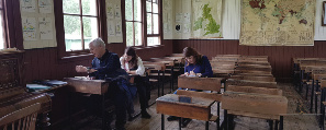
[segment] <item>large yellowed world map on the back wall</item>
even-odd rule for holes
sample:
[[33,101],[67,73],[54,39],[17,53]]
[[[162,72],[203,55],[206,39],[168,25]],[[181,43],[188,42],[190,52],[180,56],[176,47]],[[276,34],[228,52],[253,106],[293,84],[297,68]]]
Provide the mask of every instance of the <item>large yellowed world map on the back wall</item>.
[[243,0],[240,45],[313,46],[316,0]]

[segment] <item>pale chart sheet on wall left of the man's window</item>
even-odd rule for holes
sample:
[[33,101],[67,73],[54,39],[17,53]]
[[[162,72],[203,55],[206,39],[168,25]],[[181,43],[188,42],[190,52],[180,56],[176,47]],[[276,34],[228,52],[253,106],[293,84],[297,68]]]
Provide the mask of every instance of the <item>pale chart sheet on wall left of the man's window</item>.
[[53,0],[20,0],[24,49],[56,47]]

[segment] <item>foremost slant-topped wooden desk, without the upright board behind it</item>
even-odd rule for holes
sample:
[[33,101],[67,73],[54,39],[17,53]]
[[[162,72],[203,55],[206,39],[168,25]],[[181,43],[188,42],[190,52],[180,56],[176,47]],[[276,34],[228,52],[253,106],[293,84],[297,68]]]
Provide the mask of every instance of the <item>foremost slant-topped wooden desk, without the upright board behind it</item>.
[[211,120],[211,109],[213,99],[192,97],[192,103],[180,103],[179,96],[176,94],[167,94],[156,99],[156,111],[161,114],[161,129],[165,129],[164,115],[199,119]]

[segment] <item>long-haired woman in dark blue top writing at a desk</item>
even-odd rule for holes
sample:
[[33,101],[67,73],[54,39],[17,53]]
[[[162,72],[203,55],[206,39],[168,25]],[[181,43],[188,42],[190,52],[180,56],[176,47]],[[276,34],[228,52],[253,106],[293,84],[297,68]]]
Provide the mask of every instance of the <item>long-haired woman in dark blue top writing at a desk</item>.
[[[184,74],[181,76],[200,76],[200,78],[212,78],[213,70],[210,60],[206,56],[199,54],[194,48],[186,47],[183,49],[183,57],[186,58]],[[182,90],[179,87],[178,90]],[[198,91],[198,90],[192,90]],[[177,94],[177,91],[175,92]],[[170,116],[168,121],[177,120],[178,117]],[[191,119],[184,119],[182,127],[186,127]]]

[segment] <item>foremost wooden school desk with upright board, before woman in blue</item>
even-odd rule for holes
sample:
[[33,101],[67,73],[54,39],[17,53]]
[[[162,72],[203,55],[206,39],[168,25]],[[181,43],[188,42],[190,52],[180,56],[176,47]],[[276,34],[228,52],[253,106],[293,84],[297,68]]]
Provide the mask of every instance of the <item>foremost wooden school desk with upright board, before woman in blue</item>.
[[[221,78],[178,78],[178,86],[182,88],[195,88],[203,91],[213,91],[213,93],[178,90],[177,94],[167,94],[156,99],[156,111],[161,114],[161,129],[164,130],[164,115],[191,118],[206,121],[205,129],[209,130],[209,121],[216,121],[220,129],[220,102]],[[179,96],[191,97],[191,103],[178,101]],[[217,102],[217,116],[211,114],[211,106]],[[179,120],[179,129],[181,129]]]

